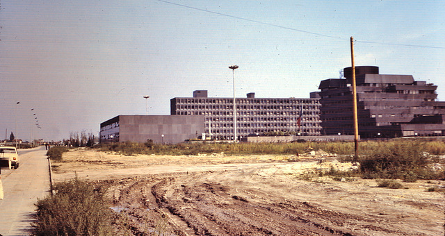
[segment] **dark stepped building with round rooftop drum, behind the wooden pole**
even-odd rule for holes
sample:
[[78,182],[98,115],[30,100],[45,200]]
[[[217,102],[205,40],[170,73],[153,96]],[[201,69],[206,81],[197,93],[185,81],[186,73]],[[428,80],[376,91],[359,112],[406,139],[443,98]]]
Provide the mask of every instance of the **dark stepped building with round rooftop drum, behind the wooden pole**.
[[[323,134],[352,135],[352,69],[344,77],[321,81]],[[437,101],[437,86],[410,75],[379,74],[378,67],[355,67],[360,137],[445,135],[445,102]],[[314,94],[312,94],[314,96]]]

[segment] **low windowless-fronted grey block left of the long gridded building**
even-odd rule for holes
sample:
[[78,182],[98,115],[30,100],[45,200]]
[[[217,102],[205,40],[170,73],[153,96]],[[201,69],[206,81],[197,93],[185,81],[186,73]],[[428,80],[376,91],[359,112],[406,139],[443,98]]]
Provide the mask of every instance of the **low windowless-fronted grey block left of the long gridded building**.
[[100,124],[100,142],[177,144],[204,133],[203,116],[118,115]]

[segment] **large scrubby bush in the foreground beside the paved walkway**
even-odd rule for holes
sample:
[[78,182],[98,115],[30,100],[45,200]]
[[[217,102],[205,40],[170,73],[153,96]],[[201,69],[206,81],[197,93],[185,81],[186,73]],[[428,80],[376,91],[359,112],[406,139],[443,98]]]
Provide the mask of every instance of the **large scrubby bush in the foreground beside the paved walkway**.
[[33,235],[114,235],[104,192],[78,178],[54,187],[54,196],[39,200]]

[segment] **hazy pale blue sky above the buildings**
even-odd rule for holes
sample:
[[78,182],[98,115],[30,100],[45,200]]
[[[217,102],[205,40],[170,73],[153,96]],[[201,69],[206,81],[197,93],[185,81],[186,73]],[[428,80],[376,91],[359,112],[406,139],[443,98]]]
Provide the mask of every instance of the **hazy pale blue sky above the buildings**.
[[[350,66],[410,74],[445,101],[444,1],[0,1],[0,133],[99,131],[116,115],[169,115],[209,90],[309,97]],[[16,102],[20,101],[17,105]],[[34,110],[31,111],[31,108]],[[31,128],[34,116],[41,129]],[[3,130],[3,131],[2,131]],[[3,136],[0,136],[3,139]]]

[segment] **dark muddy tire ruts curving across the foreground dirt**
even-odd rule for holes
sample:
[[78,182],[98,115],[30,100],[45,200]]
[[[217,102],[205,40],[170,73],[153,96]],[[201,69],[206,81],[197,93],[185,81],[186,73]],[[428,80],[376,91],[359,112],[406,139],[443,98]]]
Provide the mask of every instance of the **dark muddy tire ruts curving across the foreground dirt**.
[[133,235],[158,232],[160,224],[164,235],[362,235],[344,227],[345,222],[367,221],[312,203],[258,200],[197,178],[206,174],[128,179],[115,190],[120,192],[115,204],[125,209],[121,214],[129,217]]

